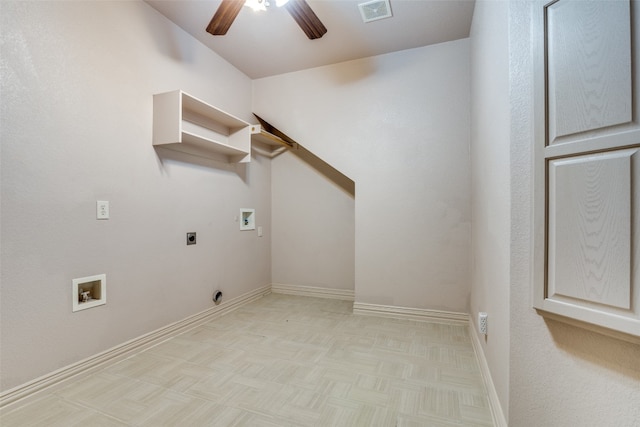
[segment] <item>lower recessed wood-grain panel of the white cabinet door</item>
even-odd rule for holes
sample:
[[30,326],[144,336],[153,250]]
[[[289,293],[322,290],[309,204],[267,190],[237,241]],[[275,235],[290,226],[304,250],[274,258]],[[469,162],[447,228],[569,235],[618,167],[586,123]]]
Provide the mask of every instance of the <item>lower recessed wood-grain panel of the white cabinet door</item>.
[[549,298],[631,308],[637,158],[638,150],[623,150],[550,162]]

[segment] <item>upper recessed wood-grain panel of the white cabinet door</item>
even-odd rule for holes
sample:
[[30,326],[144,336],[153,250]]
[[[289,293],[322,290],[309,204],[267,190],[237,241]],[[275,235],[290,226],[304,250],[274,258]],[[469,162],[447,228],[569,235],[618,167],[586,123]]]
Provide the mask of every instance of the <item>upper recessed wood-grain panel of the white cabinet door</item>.
[[556,2],[546,32],[549,142],[629,123],[629,2]]

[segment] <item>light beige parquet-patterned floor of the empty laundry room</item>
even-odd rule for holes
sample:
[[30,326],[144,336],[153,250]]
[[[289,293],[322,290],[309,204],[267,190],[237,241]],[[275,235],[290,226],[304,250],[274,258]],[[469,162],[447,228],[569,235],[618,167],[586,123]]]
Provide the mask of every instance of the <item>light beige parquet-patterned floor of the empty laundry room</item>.
[[354,316],[346,301],[289,295],[1,416],[3,427],[492,425],[465,326]]

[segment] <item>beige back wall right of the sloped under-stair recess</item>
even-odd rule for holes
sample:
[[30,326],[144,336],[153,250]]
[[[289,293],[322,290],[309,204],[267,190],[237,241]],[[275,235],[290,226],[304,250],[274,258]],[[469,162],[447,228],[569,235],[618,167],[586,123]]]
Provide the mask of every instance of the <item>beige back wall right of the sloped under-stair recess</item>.
[[358,302],[467,310],[468,55],[460,40],[253,82],[257,114],[355,181]]

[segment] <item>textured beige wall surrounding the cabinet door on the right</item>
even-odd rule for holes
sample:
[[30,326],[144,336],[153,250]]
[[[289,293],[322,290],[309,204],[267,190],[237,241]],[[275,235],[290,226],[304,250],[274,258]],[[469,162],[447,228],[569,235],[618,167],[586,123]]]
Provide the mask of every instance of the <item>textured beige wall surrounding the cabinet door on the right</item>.
[[509,425],[637,426],[640,346],[532,309],[532,3],[502,7],[509,10],[511,98]]

